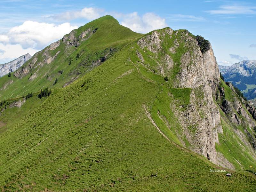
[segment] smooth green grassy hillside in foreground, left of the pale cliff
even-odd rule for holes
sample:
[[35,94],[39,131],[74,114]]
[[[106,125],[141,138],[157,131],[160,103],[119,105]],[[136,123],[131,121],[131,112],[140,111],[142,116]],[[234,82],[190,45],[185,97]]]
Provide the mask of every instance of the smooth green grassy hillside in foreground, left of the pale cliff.
[[153,53],[144,53],[148,66],[140,64],[138,49],[131,41],[72,84],[26,101],[33,107],[0,133],[2,191],[254,191],[252,173],[210,172],[224,168],[181,146],[186,137],[178,137],[169,106],[186,108],[194,92],[173,86],[182,47],[168,81]]

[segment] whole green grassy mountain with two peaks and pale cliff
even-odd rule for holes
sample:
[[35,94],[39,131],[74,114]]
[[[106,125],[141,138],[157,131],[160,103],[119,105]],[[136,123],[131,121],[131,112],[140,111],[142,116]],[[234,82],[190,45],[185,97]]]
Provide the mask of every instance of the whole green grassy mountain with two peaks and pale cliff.
[[254,190],[256,110],[220,79],[202,36],[137,34],[105,16],[12,74],[0,78],[12,80],[1,90],[2,191]]

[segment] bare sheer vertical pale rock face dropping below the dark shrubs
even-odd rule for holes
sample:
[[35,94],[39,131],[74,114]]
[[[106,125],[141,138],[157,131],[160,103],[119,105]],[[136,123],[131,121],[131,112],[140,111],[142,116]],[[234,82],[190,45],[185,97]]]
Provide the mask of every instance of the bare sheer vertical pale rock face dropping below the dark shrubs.
[[[218,132],[222,132],[220,112],[213,101],[215,81],[218,80],[218,67],[212,48],[203,54],[195,39],[187,35],[186,47],[190,52],[181,56],[181,70],[178,74],[180,87],[193,88],[190,96],[190,105],[184,112],[185,126],[196,124],[195,135],[187,134],[192,144],[192,150],[217,163],[215,142],[219,143]],[[197,45],[197,46],[196,46]],[[191,53],[192,52],[192,53]],[[202,92],[201,100],[196,99],[195,92]],[[201,114],[200,114],[201,113]],[[182,119],[181,119],[182,120]]]

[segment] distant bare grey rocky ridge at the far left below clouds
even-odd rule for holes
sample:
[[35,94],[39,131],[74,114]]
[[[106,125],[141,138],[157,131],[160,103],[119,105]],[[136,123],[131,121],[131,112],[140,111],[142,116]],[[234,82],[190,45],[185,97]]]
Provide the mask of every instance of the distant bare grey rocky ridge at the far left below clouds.
[[16,71],[20,68],[24,63],[26,63],[32,56],[27,53],[26,55],[22,55],[19,58],[10,61],[5,64],[0,64],[0,76],[4,76],[9,72]]

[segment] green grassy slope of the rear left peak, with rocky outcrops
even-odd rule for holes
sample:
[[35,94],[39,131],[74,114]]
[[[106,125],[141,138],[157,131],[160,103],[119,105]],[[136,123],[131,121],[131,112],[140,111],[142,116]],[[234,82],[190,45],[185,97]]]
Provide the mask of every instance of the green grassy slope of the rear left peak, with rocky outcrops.
[[[96,28],[97,30],[93,33],[92,31]],[[82,38],[80,36],[82,31],[88,29],[90,31]],[[141,34],[119,25],[112,16],[101,17],[87,23],[65,35],[66,41],[63,42],[64,38],[61,39],[56,49],[51,50],[48,46],[36,53],[18,70],[27,71],[27,74],[20,73],[21,78],[13,76],[15,72],[11,77],[7,75],[1,77],[0,99],[19,97],[27,92],[40,91],[45,87],[59,88],[65,83],[71,83],[97,66],[97,61],[102,57],[107,55],[106,59],[110,58],[124,45],[140,36]],[[69,42],[79,44],[70,45]],[[48,59],[52,59],[49,64]],[[71,62],[70,65],[69,62]],[[58,83],[53,85],[56,78]]]

